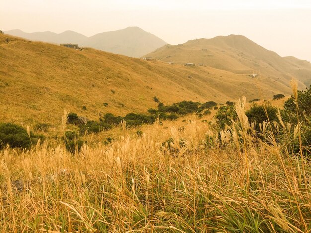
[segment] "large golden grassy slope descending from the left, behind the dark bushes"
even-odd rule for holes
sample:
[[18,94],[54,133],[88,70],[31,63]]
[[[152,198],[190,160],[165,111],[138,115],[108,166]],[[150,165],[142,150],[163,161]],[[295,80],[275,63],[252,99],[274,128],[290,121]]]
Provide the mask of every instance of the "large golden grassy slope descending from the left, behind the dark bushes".
[[154,96],[172,104],[290,94],[288,83],[271,81],[212,67],[170,65],[91,48],[80,51],[0,34],[0,122],[60,124],[64,108],[94,120],[100,112],[146,113],[157,106]]

